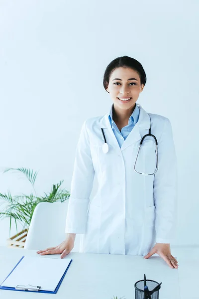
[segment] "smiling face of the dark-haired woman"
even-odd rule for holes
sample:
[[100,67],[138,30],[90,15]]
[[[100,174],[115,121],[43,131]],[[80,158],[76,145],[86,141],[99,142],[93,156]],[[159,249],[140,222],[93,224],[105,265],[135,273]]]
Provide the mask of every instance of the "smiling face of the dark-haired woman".
[[[143,88],[144,84],[140,84],[140,77],[136,71],[118,67],[111,73],[106,90],[110,93],[114,107],[128,110],[134,107]],[[122,101],[119,98],[130,98],[130,100]]]

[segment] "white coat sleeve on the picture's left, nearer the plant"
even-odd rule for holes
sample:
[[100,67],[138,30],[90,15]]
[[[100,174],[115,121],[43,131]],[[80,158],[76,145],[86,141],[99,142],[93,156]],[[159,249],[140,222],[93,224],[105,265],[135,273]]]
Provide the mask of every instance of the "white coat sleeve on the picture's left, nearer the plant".
[[84,234],[86,232],[87,210],[95,174],[86,122],[82,126],[76,149],[66,217],[66,233]]

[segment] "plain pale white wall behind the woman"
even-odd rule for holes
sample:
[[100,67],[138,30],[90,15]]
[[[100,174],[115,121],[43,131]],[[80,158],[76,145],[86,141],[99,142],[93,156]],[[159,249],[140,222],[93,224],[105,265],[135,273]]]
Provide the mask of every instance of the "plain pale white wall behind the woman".
[[[64,179],[70,191],[83,121],[109,111],[107,64],[128,55],[147,83],[138,102],[170,119],[178,157],[176,244],[199,244],[199,2],[1,0],[0,170],[39,170],[35,188]],[[0,193],[28,193],[0,173]],[[14,233],[14,226],[12,233]],[[0,221],[0,245],[8,221]]]

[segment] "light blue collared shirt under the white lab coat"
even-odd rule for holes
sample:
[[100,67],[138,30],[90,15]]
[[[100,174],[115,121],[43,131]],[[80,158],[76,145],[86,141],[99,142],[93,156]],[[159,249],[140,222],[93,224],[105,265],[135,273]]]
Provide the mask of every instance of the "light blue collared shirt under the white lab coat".
[[140,114],[140,110],[139,107],[137,106],[137,104],[135,104],[135,109],[133,111],[133,113],[131,114],[129,120],[128,120],[128,125],[123,127],[121,129],[121,132],[119,131],[119,129],[117,128],[115,122],[112,119],[112,107],[110,109],[110,113],[108,116],[109,122],[110,122],[110,126],[112,128],[112,131],[116,137],[116,140],[119,144],[119,147],[121,148],[121,146],[124,143],[124,140],[126,140],[126,138],[128,137],[129,133],[132,131],[132,129],[134,128],[135,124],[138,122],[139,119],[139,114]]

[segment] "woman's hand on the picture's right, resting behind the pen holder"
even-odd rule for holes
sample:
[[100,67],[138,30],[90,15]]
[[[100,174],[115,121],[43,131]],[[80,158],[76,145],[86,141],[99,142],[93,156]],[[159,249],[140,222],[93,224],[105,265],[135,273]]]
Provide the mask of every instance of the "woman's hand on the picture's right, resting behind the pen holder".
[[150,258],[154,253],[159,254],[169,267],[178,269],[178,261],[171,255],[170,244],[156,243],[144,259]]

